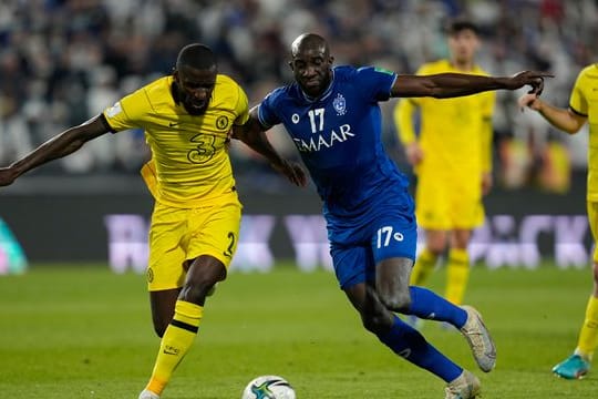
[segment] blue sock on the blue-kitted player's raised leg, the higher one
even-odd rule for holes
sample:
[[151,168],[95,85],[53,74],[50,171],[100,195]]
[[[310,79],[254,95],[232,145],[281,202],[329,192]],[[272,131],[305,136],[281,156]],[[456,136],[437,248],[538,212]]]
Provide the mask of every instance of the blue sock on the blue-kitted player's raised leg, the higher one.
[[448,321],[456,328],[463,327],[465,321],[467,321],[467,313],[465,310],[451,304],[430,289],[411,286],[409,290],[411,294],[410,315],[427,320]]

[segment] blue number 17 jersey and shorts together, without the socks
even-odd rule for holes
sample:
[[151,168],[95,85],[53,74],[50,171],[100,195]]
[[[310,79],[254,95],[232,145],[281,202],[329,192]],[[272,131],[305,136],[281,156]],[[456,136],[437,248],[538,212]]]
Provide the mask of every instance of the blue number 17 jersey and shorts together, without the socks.
[[414,259],[417,241],[408,180],[382,146],[378,103],[396,75],[337,66],[318,99],[297,83],[268,94],[258,109],[265,127],[282,123],[323,201],[332,264],[342,288],[375,279],[375,265]]

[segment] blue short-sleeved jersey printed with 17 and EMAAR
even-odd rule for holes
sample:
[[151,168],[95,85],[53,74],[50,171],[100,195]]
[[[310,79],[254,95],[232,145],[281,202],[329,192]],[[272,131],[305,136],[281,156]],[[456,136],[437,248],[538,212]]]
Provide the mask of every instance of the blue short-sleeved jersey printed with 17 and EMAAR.
[[282,123],[290,134],[324,203],[324,216],[359,217],[392,186],[408,186],[381,141],[378,102],[389,100],[395,79],[371,66],[337,66],[320,98],[310,99],[293,83],[259,105],[264,126]]

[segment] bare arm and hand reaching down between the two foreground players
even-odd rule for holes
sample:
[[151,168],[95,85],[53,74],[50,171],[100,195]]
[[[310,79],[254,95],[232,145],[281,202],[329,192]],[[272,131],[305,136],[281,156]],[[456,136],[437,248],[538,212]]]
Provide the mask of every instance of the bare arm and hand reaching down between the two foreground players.
[[306,186],[306,172],[298,163],[287,161],[278,154],[259,123],[256,109],[251,110],[247,123],[243,126],[233,127],[233,139],[240,140],[251,150],[267,158],[272,168],[287,176],[292,184],[300,187]]

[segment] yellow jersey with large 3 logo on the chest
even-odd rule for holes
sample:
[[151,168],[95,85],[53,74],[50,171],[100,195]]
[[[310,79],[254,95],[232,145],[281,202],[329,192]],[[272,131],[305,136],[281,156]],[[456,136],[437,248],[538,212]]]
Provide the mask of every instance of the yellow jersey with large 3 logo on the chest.
[[126,95],[104,111],[114,132],[145,131],[152,160],[142,168],[154,198],[190,208],[238,201],[228,141],[233,125],[249,119],[247,94],[229,76],[218,74],[203,115],[190,115],[172,94],[165,76]]

